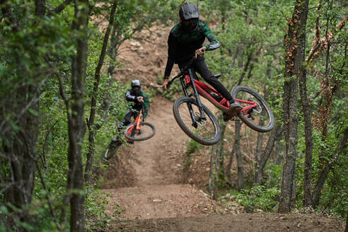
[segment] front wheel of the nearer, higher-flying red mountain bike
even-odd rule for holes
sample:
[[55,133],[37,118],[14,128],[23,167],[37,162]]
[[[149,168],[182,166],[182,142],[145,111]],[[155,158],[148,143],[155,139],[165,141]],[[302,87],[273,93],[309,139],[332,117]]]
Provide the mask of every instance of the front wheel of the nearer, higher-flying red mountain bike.
[[193,98],[182,97],[175,100],[173,113],[180,128],[199,144],[213,145],[221,137],[220,125],[213,113],[202,105],[205,120],[200,118],[201,114],[197,102]]

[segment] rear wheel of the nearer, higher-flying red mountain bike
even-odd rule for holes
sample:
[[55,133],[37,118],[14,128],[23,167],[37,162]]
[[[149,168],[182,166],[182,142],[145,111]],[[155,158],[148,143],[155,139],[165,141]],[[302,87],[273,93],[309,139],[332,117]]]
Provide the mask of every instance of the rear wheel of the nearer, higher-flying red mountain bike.
[[254,108],[248,110],[242,109],[238,113],[240,120],[247,124],[248,127],[257,132],[269,132],[273,129],[275,121],[273,112],[261,95],[245,86],[236,86],[236,88],[233,88],[231,95],[237,99],[240,105],[242,105],[242,108],[250,104],[242,103],[239,100],[254,101],[257,104]]

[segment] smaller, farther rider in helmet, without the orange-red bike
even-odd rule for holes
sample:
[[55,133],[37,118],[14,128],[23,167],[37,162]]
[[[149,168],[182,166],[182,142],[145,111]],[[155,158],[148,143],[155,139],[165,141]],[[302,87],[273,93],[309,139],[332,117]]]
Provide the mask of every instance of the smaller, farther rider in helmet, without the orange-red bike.
[[[147,113],[149,112],[149,100],[147,99],[144,91],[141,91],[140,81],[138,79],[132,80],[131,86],[132,89],[128,90],[126,93],[126,100],[127,102],[134,104],[130,108],[127,108],[126,115],[124,115],[124,120],[122,120],[122,122],[118,125],[117,131],[119,134],[123,127],[127,127],[131,123],[132,117],[135,119],[139,115],[142,105],[144,105],[143,120],[145,120]],[[120,135],[118,137],[113,137],[112,141],[116,142],[117,144],[122,144],[122,141],[120,141]]]

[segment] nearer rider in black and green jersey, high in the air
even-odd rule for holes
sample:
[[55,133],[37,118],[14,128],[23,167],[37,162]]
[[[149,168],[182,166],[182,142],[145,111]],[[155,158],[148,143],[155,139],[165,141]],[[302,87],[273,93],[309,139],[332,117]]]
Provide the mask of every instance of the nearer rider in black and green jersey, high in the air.
[[[231,111],[238,112],[241,109],[240,104],[233,99],[222,83],[211,74],[204,60],[204,51],[216,50],[220,47],[219,41],[211,33],[208,25],[204,21],[199,20],[199,11],[195,4],[187,2],[181,4],[179,18],[180,23],[170,30],[168,37],[168,59],[163,78],[163,90],[168,89],[168,79],[173,65],[178,64],[179,68],[182,69],[195,56],[197,59],[192,62],[192,68],[229,101]],[[210,43],[202,46],[206,37]],[[197,79],[196,74],[195,79]],[[224,114],[224,120],[228,119],[228,115]]]

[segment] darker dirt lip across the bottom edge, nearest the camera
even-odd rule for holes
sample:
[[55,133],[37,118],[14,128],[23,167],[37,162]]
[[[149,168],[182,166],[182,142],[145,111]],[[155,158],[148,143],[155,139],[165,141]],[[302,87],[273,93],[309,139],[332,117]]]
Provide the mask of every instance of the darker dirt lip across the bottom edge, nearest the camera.
[[210,215],[174,219],[120,221],[110,231],[124,232],[336,232],[344,231],[340,221],[303,214]]

